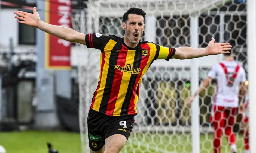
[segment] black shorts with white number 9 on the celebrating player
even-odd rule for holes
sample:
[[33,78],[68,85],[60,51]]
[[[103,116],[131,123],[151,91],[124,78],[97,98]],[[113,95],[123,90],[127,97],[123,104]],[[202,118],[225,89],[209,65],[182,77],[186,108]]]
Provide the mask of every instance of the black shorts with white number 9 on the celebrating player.
[[135,115],[109,116],[90,109],[87,118],[90,149],[99,151],[105,145],[105,139],[114,134],[121,134],[128,140]]

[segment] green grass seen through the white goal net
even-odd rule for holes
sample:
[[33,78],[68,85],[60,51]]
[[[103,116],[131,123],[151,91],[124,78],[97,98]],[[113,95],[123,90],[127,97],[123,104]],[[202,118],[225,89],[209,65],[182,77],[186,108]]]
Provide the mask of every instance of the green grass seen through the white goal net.
[[[154,139],[154,142],[152,142]],[[208,133],[200,135],[200,152],[208,153],[213,152],[212,148],[213,134]],[[144,143],[138,143],[138,141],[144,140]],[[243,152],[243,137],[242,134],[236,135],[237,153]],[[135,148],[135,149],[134,149]],[[157,150],[156,150],[157,148]],[[135,150],[135,151],[134,151]],[[149,151],[146,151],[149,150]],[[184,135],[181,133],[168,133],[168,135],[162,135],[160,133],[151,134],[138,134],[131,133],[126,146],[122,149],[122,153],[132,153],[132,152],[168,152],[168,153],[179,153],[179,152],[192,152],[191,145],[191,135]],[[230,146],[227,139],[222,137],[222,148],[221,152],[230,152]]]

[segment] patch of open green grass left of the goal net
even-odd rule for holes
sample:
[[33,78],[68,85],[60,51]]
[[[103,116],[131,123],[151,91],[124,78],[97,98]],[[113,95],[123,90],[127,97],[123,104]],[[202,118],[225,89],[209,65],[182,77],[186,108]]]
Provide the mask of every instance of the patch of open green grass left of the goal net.
[[7,153],[47,153],[51,142],[60,153],[80,153],[80,134],[71,132],[12,131],[0,132],[0,145]]

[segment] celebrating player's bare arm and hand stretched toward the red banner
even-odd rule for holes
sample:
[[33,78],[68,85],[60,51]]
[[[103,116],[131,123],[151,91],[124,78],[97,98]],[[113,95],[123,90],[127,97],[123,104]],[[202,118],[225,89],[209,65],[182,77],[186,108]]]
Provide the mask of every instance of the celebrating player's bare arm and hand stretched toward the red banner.
[[71,28],[61,27],[43,22],[40,19],[38,12],[36,12],[35,7],[33,8],[33,14],[22,11],[14,12],[14,14],[18,15],[15,16],[15,18],[22,20],[18,20],[19,23],[36,27],[42,31],[45,31],[49,34],[52,34],[53,36],[59,37],[69,42],[76,42],[86,45],[85,34],[79,33]]

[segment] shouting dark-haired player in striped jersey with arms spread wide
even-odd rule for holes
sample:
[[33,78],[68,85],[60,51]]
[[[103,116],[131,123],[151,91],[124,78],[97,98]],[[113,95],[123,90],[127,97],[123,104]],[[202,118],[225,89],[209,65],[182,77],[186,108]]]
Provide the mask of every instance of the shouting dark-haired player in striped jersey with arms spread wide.
[[123,15],[124,37],[99,33],[83,34],[40,20],[33,14],[17,11],[18,22],[27,24],[70,42],[101,50],[99,85],[93,95],[87,119],[91,152],[119,152],[130,135],[137,114],[139,85],[151,63],[156,59],[190,59],[216,55],[231,49],[229,43],[214,43],[206,48],[166,48],[147,41],[141,42],[146,13],[130,8]]

